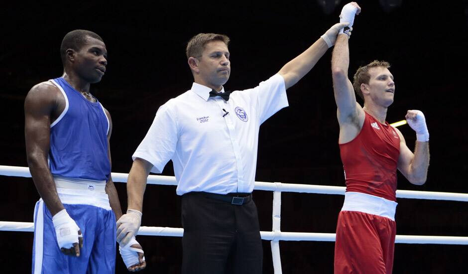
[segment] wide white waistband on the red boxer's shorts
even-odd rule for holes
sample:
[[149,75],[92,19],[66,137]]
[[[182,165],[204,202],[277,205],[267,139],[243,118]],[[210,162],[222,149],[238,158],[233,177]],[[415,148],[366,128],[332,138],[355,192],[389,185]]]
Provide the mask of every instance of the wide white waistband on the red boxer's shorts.
[[378,215],[395,221],[395,211],[398,203],[381,197],[359,193],[346,192],[342,211],[360,211]]

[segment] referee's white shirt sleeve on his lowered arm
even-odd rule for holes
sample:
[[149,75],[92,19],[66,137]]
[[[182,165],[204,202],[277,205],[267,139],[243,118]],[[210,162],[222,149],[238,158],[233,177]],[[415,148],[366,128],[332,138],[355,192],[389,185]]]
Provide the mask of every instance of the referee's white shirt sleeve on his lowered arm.
[[162,172],[174,155],[178,141],[176,117],[171,115],[166,104],[159,108],[146,136],[132,155],[133,160],[141,158],[153,164],[151,172],[154,173]]

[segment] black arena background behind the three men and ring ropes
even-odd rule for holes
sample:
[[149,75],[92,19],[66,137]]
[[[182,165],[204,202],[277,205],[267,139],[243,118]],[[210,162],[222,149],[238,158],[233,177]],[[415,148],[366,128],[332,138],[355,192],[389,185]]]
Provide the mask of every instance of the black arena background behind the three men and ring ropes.
[[[108,71],[92,93],[110,111],[113,172],[128,173],[131,155],[159,106],[190,89],[187,41],[199,32],[231,38],[227,90],[254,87],[275,74],[339,21],[346,1],[117,1],[2,3],[0,11],[0,165],[27,166],[24,98],[62,74],[59,47],[73,29],[106,43]],[[467,1],[365,0],[350,40],[350,77],[374,59],[391,63],[395,101],[387,121],[424,112],[431,162],[426,184],[398,174],[398,189],[468,193]],[[338,147],[330,49],[288,90],[290,106],[261,127],[256,180],[344,186]],[[399,128],[410,149],[415,133]],[[173,175],[169,162],[163,175]],[[126,210],[126,185],[115,183]],[[32,179],[0,176],[0,221],[32,222],[39,195]],[[254,191],[260,230],[271,231],[272,192]],[[142,226],[181,227],[174,186],[148,185]],[[281,231],[334,233],[342,195],[282,194]],[[398,199],[398,235],[468,236],[468,203]],[[180,273],[181,238],[139,236],[143,273]],[[1,273],[30,273],[33,233],[0,232]],[[265,274],[273,273],[263,241]],[[284,274],[333,273],[334,242],[280,242]],[[467,273],[467,245],[396,244],[394,273]],[[117,254],[116,273],[126,273]]]

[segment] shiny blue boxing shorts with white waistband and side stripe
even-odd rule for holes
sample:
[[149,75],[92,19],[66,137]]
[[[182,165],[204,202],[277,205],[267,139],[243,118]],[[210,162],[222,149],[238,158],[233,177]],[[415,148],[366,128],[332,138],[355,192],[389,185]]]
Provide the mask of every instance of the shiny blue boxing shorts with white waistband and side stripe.
[[52,216],[42,199],[34,209],[32,274],[113,274],[116,266],[116,217],[106,182],[54,177],[59,198],[83,234],[80,257],[63,254]]

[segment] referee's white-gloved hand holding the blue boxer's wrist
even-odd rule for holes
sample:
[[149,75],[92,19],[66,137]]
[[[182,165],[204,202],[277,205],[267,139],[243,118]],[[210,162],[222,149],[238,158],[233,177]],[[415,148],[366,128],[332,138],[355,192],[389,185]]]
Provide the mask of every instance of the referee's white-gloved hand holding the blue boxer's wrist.
[[[138,234],[141,225],[142,213],[138,210],[127,209],[127,214],[123,214],[117,221],[117,241],[121,246],[126,246],[131,237]],[[123,238],[122,238],[123,237]]]

